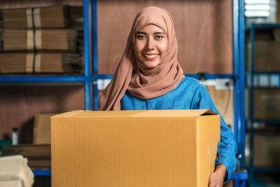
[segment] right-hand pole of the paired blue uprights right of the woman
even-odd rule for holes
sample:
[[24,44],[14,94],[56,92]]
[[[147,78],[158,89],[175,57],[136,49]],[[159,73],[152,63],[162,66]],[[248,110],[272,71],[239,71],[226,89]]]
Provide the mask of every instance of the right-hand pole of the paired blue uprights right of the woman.
[[240,104],[240,167],[245,168],[245,17],[244,0],[239,0],[239,104]]

